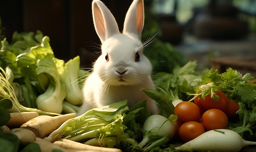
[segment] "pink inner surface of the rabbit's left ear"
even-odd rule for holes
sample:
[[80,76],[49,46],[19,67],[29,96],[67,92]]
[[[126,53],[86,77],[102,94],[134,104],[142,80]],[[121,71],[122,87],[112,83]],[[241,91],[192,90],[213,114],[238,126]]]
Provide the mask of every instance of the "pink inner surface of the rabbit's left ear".
[[99,35],[101,41],[105,39],[106,31],[104,25],[104,19],[97,4],[93,6],[93,17],[94,17],[94,26],[96,29],[97,34]]

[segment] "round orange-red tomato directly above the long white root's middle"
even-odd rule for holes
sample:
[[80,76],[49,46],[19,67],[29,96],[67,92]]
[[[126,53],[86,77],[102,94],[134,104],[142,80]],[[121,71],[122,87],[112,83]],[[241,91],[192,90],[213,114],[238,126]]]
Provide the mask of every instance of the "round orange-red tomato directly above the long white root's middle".
[[202,124],[206,130],[224,129],[228,121],[227,115],[220,109],[209,109],[202,115]]

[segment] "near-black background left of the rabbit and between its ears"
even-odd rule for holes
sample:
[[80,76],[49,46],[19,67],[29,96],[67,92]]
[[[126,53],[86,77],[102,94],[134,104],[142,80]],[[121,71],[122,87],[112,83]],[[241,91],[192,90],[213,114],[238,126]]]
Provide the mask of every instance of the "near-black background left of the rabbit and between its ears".
[[[132,0],[102,0],[115,16],[120,29]],[[4,35],[11,41],[14,31],[40,30],[50,37],[60,59],[92,55],[81,59],[88,65],[97,56],[92,45],[100,44],[92,22],[91,0],[1,0],[0,17]],[[121,6],[121,7],[120,7]],[[115,9],[114,9],[115,8]]]

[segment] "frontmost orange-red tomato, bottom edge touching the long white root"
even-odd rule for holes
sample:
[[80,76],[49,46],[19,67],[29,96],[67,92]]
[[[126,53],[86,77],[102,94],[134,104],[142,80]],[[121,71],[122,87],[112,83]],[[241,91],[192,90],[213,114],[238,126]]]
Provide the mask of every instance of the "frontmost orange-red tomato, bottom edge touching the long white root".
[[182,141],[187,142],[204,133],[204,127],[197,121],[188,121],[180,126],[179,134]]

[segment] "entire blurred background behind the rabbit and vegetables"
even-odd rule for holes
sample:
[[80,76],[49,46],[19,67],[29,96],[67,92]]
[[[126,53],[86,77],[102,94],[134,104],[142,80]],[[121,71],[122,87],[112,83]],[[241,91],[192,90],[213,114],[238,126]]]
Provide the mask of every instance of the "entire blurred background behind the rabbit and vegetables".
[[[132,0],[102,0],[120,31]],[[18,32],[40,30],[59,59],[81,57],[89,68],[101,42],[92,21],[92,0],[0,0],[1,31],[11,42]],[[198,70],[232,67],[256,76],[256,0],[144,0],[142,41],[154,72],[197,60]]]

